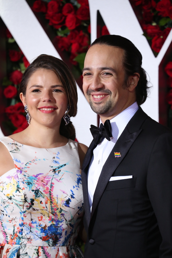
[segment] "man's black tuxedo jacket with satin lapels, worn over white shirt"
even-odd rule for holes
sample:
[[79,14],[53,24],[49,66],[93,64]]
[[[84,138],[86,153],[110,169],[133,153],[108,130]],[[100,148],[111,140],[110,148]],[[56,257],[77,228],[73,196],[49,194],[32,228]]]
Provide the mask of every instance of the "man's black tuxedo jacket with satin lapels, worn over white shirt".
[[[172,257],[172,131],[139,107],[102,168],[90,212],[87,172],[94,148],[92,142],[82,170],[84,257]],[[133,178],[109,181],[126,175]]]

